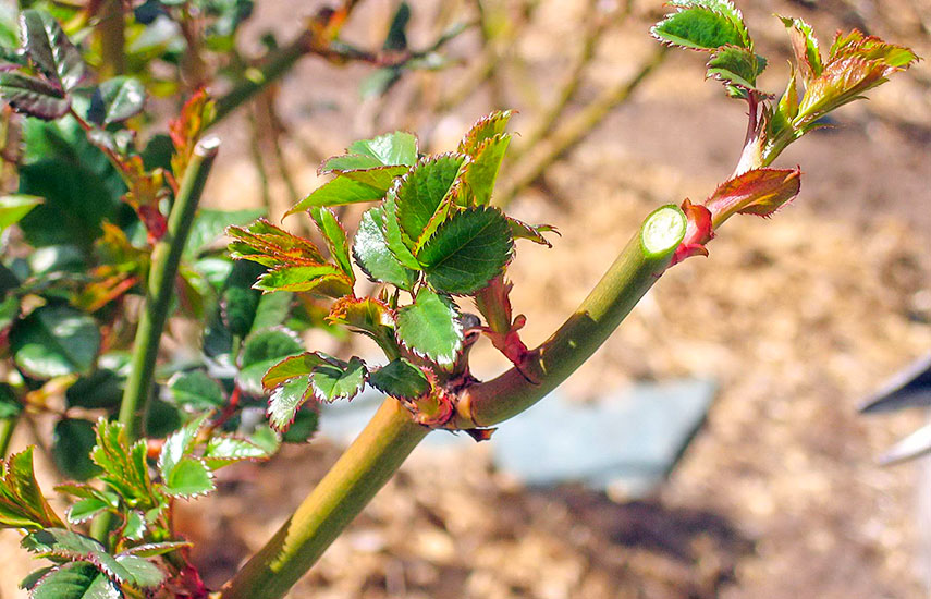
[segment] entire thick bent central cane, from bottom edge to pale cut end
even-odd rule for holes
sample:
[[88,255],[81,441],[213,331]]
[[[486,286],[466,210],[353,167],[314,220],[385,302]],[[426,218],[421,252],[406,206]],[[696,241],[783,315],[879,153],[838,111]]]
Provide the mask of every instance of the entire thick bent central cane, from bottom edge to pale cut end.
[[[669,267],[686,219],[663,206],[644,222],[608,273],[565,325],[535,350],[530,383],[516,369],[466,391],[453,427],[475,428],[511,417],[566,379],[617,327]],[[401,467],[429,429],[389,398],[366,429],[274,537],[223,587],[218,599],[278,599],[323,553]]]

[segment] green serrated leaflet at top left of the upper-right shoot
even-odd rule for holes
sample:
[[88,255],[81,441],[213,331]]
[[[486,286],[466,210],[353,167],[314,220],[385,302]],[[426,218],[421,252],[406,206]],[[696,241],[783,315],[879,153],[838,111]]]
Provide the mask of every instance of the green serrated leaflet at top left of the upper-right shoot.
[[650,33],[664,44],[693,50],[714,50],[722,46],[752,48],[744,19],[726,0],[679,0],[678,9],[657,23]]

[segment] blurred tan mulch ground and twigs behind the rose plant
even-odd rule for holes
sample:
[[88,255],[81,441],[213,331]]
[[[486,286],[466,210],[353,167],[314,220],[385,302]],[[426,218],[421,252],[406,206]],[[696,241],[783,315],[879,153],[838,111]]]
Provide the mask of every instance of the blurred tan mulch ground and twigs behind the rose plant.
[[[710,383],[713,401],[694,423],[703,416],[703,424],[667,479],[636,498],[623,485],[571,476],[530,485],[497,462],[503,437],[427,443],[291,597],[929,596],[922,542],[931,530],[920,524],[918,498],[931,480],[920,462],[875,461],[922,414],[865,417],[857,407],[931,351],[931,2],[737,4],[770,59],[761,85],[774,93],[791,50],[773,13],[806,19],[824,47],[838,28],[858,27],[926,60],[870,101],[838,111],[835,129],[792,146],[780,164],[801,167],[801,195],[770,220],[735,219],[709,258],[664,276],[559,391],[584,409],[642,384]],[[242,52],[258,53],[268,30],[297,35],[322,5],[257,2]],[[399,5],[360,0],[342,38],[382,47]],[[277,219],[323,182],[320,160],[354,139],[403,129],[418,133],[421,151],[443,151],[482,114],[516,109],[519,136],[495,201],[562,233],[552,249],[522,244],[510,269],[534,346],[648,211],[701,200],[733,171],[745,107],[703,81],[702,56],[663,52],[650,38],[660,1],[414,0],[409,8],[411,48],[467,27],[427,57],[434,61],[427,70],[303,59],[217,127],[223,148],[206,203],[268,206]],[[360,212],[346,212],[350,229]],[[285,224],[299,230],[309,222],[301,218]],[[365,352],[319,331],[308,343]],[[506,366],[489,347],[476,353],[480,378]],[[257,550],[339,456],[345,431],[328,433],[326,413],[321,427],[310,444],[223,470],[220,492],[183,504],[208,585]],[[683,443],[694,431],[686,429]],[[542,451],[564,431],[553,420],[535,432],[516,442]],[[576,441],[566,451],[579,461],[602,451],[584,435]],[[0,540],[2,596],[17,597],[5,580],[19,580],[27,558],[12,549],[12,535]]]

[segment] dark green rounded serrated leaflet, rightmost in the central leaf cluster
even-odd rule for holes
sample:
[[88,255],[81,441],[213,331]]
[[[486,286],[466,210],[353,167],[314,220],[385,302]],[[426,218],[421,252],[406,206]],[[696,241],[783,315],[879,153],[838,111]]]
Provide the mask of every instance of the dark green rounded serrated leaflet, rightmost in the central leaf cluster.
[[437,291],[468,295],[483,288],[511,259],[511,225],[497,208],[469,208],[437,229],[417,259]]

